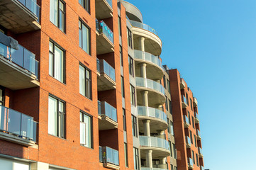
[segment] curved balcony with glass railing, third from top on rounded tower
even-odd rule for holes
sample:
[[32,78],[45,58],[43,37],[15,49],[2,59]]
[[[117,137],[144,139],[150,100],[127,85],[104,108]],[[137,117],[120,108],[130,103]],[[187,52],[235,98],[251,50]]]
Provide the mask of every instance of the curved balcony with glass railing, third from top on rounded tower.
[[148,91],[148,106],[154,107],[156,103],[165,103],[165,88],[162,84],[151,79],[136,77],[136,89],[138,105],[143,106],[142,91]]

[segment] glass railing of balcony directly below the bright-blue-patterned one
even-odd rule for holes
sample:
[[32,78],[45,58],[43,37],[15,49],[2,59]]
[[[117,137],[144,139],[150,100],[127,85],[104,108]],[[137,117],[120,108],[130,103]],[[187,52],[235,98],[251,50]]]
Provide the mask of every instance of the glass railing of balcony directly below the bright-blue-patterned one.
[[116,72],[111,65],[109,65],[105,60],[99,60],[97,59],[97,71],[100,73],[105,73],[113,79],[113,81],[116,81]]

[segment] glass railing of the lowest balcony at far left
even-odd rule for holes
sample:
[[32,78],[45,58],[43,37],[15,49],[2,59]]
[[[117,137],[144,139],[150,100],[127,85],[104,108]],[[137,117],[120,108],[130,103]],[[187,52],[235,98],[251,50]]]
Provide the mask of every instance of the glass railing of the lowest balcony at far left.
[[33,120],[33,117],[0,106],[1,132],[36,141],[36,126],[37,123]]

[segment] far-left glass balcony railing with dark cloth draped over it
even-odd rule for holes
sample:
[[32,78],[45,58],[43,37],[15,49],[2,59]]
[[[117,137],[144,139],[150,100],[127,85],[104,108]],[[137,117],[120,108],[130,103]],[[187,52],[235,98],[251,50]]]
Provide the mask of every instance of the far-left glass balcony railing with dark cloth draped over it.
[[38,79],[39,62],[35,60],[35,55],[26,48],[18,45],[18,50],[14,50],[0,42],[0,55],[17,64],[28,72],[35,74]]

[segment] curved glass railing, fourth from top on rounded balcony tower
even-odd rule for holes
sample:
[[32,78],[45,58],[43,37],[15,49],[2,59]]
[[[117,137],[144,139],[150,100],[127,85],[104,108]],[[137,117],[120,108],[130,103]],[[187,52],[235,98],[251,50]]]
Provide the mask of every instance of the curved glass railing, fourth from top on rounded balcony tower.
[[152,118],[158,118],[167,122],[167,115],[165,112],[158,110],[157,108],[150,108],[145,106],[137,106],[138,115],[148,116]]

